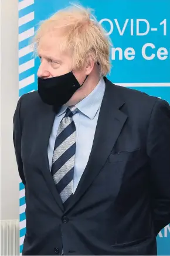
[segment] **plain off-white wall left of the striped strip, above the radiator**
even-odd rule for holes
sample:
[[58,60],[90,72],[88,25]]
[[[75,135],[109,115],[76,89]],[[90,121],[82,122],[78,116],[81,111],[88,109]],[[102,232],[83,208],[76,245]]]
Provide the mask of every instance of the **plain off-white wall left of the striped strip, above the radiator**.
[[1,2],[1,220],[19,219],[12,118],[18,101],[18,0]]

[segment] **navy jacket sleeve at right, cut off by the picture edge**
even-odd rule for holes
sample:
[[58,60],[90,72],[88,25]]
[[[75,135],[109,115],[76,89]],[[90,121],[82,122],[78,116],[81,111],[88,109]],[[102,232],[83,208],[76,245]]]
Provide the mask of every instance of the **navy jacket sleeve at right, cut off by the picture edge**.
[[170,223],[170,107],[158,99],[148,127],[147,152],[155,234]]

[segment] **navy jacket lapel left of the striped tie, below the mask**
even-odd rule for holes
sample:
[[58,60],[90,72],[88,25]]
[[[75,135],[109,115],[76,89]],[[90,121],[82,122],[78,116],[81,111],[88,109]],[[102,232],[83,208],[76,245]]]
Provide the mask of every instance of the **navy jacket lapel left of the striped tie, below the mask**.
[[43,104],[40,109],[40,116],[37,124],[40,126],[38,128],[38,150],[39,157],[37,159],[38,167],[40,167],[43,176],[45,177],[45,181],[47,183],[47,187],[50,189],[55,201],[63,211],[63,203],[60,198],[59,193],[57,192],[55,182],[53,180],[52,174],[49,169],[49,159],[47,155],[47,148],[49,145],[49,138],[52,132],[53,122],[55,120],[55,111],[53,111],[53,107]]

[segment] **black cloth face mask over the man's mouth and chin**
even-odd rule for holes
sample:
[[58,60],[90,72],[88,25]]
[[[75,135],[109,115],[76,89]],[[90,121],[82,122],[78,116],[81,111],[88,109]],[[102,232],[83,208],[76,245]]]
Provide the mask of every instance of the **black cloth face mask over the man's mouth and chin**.
[[72,71],[60,75],[59,77],[46,79],[38,78],[38,92],[40,98],[46,104],[54,105],[55,107],[61,107],[66,104],[66,102],[72,98],[74,92],[76,92],[82,85],[79,84]]

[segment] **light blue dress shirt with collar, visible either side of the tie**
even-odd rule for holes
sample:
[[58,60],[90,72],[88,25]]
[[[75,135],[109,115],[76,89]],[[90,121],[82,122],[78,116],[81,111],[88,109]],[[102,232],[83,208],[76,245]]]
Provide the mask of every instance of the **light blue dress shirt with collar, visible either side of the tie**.
[[[83,174],[89,160],[105,87],[104,79],[101,77],[93,91],[86,98],[76,104],[76,107],[79,110],[73,115],[74,124],[76,126],[76,154],[74,162],[73,193],[76,191],[81,175]],[[62,106],[53,123],[47,150],[50,169],[52,167],[52,157],[55,148],[57,130],[62,118],[66,114],[66,109],[66,106]]]

